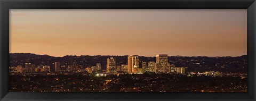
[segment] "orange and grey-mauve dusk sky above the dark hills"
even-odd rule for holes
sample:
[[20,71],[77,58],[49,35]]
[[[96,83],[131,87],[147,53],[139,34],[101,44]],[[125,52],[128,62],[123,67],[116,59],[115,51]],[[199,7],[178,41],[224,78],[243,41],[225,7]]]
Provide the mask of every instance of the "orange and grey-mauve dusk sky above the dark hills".
[[10,53],[241,56],[244,10],[10,10]]

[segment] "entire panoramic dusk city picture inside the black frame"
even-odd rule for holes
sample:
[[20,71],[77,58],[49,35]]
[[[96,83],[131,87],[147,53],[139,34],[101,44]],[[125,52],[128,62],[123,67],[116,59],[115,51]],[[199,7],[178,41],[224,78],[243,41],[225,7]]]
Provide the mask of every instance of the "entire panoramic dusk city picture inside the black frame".
[[10,92],[248,89],[246,9],[9,13]]

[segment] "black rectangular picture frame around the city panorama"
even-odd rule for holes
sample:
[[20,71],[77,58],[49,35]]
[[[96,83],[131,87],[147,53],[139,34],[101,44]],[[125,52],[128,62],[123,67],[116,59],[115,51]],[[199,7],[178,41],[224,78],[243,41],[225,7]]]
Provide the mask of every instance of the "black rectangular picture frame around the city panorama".
[[[247,9],[247,92],[9,92],[10,9]],[[255,0],[0,0],[1,100],[255,100]]]

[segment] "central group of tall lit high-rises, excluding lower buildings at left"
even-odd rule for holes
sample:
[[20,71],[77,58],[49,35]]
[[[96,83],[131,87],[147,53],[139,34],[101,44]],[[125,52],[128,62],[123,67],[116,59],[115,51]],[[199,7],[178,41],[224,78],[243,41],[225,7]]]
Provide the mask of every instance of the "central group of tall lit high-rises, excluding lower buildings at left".
[[108,58],[107,61],[107,73],[118,73],[119,71],[126,73],[144,73],[144,72],[155,72],[159,73],[181,73],[185,74],[185,68],[175,68],[175,65],[168,62],[167,54],[156,55],[156,62],[143,62],[140,61],[139,56],[133,55],[128,56],[127,65],[122,64],[121,66],[116,65],[116,59],[113,57]]

